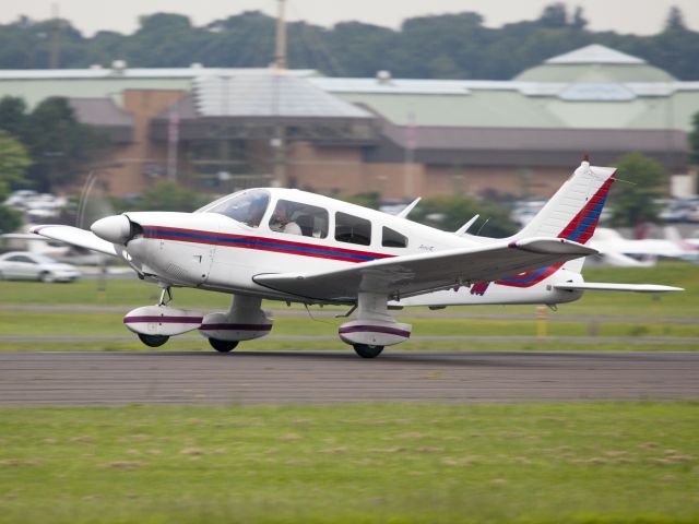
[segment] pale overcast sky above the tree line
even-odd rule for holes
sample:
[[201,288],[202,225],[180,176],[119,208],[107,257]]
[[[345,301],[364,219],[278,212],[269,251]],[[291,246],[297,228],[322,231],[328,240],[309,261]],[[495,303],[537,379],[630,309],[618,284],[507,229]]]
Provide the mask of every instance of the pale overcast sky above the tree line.
[[[499,27],[508,22],[538,17],[545,5],[556,0],[287,0],[289,20],[332,26],[343,21],[398,28],[405,19],[428,14],[475,11],[485,17],[485,25]],[[204,25],[242,11],[276,12],[276,0],[0,0],[0,23],[12,22],[25,14],[34,20],[50,17],[54,5],[62,19],[86,36],[99,29],[131,33],[138,27],[139,16],[155,12],[188,15],[194,25]],[[593,31],[616,31],[639,35],[661,31],[672,5],[685,15],[685,23],[699,31],[698,0],[564,0],[569,10],[583,8],[589,27]]]

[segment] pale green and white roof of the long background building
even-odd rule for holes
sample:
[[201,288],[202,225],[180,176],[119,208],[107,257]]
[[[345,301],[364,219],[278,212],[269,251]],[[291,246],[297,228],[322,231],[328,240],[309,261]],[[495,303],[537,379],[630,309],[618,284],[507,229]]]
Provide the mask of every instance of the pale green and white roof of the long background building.
[[[270,69],[201,67],[14,70],[0,71],[0,97],[22,96],[29,107],[48,96],[110,97],[119,105],[126,90],[178,90],[191,93],[197,117],[295,118],[303,112],[356,119],[370,118],[372,111],[399,124],[413,119],[419,126],[691,129],[691,116],[699,111],[699,82],[679,82],[628,57],[587,47],[554,57],[512,81],[388,74],[337,79],[311,70],[289,70],[280,80]],[[600,63],[584,63],[588,60]]]

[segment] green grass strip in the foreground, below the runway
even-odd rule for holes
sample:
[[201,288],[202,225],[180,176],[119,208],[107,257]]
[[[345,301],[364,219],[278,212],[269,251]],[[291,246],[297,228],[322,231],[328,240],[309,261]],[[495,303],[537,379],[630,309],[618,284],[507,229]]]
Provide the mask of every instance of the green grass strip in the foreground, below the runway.
[[699,404],[0,409],[0,522],[698,522]]

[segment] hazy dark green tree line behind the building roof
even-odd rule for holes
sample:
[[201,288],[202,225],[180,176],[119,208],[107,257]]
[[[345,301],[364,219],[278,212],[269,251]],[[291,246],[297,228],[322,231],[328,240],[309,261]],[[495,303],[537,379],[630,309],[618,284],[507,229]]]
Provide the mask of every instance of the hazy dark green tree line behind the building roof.
[[[266,67],[274,57],[274,19],[248,11],[204,26],[180,14],[143,16],[132,34],[84,36],[67,20],[25,16],[0,25],[0,69],[87,68],[123,59],[130,67]],[[342,22],[327,28],[288,24],[289,64],[331,76],[509,80],[572,49],[602,44],[645,59],[680,80],[699,79],[699,33],[672,8],[655,35],[593,32],[581,8],[547,5],[533,21],[484,25],[476,12],[407,19],[400,29]]]

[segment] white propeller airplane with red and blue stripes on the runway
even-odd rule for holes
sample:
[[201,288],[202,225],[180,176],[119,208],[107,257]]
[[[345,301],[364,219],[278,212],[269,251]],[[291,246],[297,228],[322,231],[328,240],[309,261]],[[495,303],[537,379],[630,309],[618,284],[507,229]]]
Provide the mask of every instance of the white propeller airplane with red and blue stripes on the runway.
[[[91,231],[44,225],[33,233],[123,259],[162,288],[154,306],[123,323],[147,346],[192,330],[221,353],[265,336],[273,319],[262,299],[344,305],[340,338],[364,358],[406,341],[411,324],[395,308],[484,303],[558,303],[585,290],[661,293],[649,284],[585,283],[585,246],[615,169],[587,157],[541,212],[509,238],[442,231],[407,218],[285,188],[248,189],[193,213],[126,212],[96,221]],[[171,289],[233,295],[227,311],[175,308]]]

